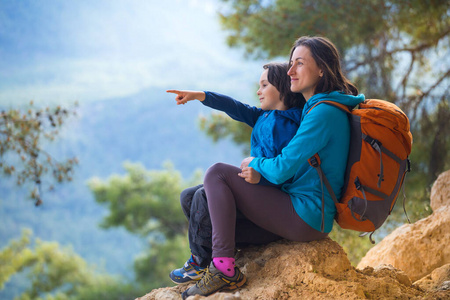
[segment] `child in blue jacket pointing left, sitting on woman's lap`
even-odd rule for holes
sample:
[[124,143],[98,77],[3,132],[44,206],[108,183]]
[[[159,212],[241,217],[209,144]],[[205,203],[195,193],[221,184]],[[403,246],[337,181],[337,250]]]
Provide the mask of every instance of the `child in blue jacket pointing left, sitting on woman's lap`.
[[[300,125],[305,99],[300,93],[290,90],[287,63],[269,63],[263,66],[256,92],[261,108],[249,106],[228,96],[213,92],[178,91],[177,104],[198,99],[202,104],[226,112],[231,118],[245,122],[253,128],[251,135],[251,155],[256,157],[275,157],[289,143]],[[262,179],[262,185],[275,186]],[[281,186],[281,185],[279,185]],[[181,207],[189,220],[189,246],[191,257],[186,264],[170,273],[175,283],[198,280],[211,263],[212,229],[203,185],[184,190],[180,195]],[[269,243],[281,237],[272,234],[250,222],[238,213],[236,243]]]

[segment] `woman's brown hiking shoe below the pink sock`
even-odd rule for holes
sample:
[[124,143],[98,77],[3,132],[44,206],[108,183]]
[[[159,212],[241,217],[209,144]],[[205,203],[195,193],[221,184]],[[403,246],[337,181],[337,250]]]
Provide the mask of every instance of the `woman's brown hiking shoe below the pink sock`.
[[234,267],[234,271],[233,277],[225,276],[222,272],[217,270],[211,262],[211,265],[203,274],[202,279],[184,291],[183,294],[181,294],[181,297],[186,299],[193,295],[208,296],[223,289],[233,290],[243,286],[247,279],[238,267]]

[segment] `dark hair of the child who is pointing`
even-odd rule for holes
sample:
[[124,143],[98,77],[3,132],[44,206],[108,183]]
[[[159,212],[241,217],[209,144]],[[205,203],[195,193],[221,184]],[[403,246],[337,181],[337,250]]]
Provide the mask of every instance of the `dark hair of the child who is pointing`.
[[293,93],[291,91],[291,78],[287,75],[289,70],[288,63],[268,63],[263,66],[267,72],[267,80],[273,85],[278,92],[284,105],[289,108],[303,108],[306,103],[305,97],[301,93]]

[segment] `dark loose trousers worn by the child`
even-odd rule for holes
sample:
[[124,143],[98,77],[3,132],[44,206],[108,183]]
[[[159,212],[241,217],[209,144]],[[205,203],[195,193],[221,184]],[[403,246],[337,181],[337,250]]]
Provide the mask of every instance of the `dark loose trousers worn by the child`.
[[[208,201],[203,185],[185,189],[180,195],[181,208],[189,221],[189,246],[200,266],[206,267],[212,260],[212,225]],[[236,210],[236,244],[238,248],[248,245],[267,244],[281,239],[248,220]]]

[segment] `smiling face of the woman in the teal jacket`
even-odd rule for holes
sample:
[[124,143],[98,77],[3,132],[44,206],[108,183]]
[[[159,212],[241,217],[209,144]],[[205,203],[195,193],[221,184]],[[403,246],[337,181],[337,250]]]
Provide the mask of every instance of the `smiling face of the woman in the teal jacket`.
[[302,93],[306,101],[314,95],[314,90],[323,76],[308,47],[298,46],[292,52],[291,67],[288,75],[291,77],[291,91]]

